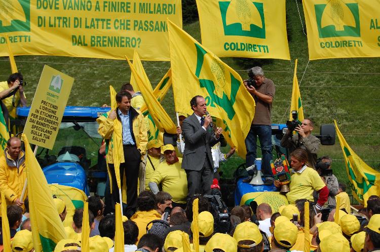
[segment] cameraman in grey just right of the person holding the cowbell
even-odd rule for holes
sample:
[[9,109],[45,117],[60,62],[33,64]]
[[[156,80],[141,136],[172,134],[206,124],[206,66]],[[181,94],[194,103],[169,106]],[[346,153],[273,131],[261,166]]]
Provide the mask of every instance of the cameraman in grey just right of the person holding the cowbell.
[[327,203],[329,207],[335,207],[336,200],[335,195],[339,193],[338,191],[338,179],[335,177],[335,175],[332,174],[331,169],[331,158],[329,156],[323,156],[321,158],[318,158],[317,164],[316,164],[316,170],[321,176],[321,179],[323,182],[325,182],[325,185],[328,188],[329,194],[327,198]]

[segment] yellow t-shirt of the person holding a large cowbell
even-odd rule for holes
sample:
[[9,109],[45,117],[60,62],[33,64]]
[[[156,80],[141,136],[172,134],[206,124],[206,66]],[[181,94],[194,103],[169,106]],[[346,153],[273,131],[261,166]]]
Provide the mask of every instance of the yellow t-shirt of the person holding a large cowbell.
[[325,187],[321,177],[313,168],[306,167],[302,173],[293,173],[289,184],[290,192],[286,194],[289,204],[297,199],[313,200],[314,190],[319,191]]

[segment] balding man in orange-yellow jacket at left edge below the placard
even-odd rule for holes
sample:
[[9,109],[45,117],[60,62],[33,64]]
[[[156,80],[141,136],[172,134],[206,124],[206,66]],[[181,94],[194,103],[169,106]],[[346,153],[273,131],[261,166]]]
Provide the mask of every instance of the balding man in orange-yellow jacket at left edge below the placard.
[[24,207],[26,193],[23,199],[20,197],[25,180],[25,153],[21,150],[21,140],[11,137],[4,155],[0,157],[0,191],[4,192],[7,205]]

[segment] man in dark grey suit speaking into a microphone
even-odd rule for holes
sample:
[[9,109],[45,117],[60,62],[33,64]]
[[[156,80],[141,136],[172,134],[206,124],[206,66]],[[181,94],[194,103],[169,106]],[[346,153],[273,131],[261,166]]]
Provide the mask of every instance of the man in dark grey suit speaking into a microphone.
[[210,115],[206,115],[206,101],[202,96],[195,96],[190,101],[194,113],[183,120],[182,133],[185,139],[182,168],[187,175],[187,199],[195,194],[210,194],[214,163],[211,146],[219,141],[221,128],[213,131]]

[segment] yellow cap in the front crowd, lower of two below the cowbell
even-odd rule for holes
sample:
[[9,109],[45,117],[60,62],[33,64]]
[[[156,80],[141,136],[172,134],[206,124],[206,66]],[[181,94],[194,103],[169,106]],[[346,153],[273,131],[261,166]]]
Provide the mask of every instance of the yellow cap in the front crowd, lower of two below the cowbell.
[[289,220],[282,221],[276,224],[273,235],[280,245],[290,248],[297,241],[298,228]]

